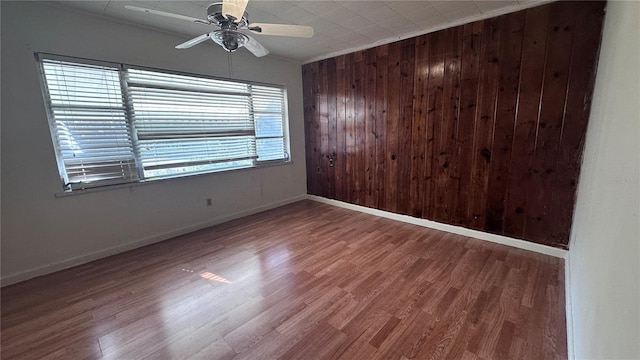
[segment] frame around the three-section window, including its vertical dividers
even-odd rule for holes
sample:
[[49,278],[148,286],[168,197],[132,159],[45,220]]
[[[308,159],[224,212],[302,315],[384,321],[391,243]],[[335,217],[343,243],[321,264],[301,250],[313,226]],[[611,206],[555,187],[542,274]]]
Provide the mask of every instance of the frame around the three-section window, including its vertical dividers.
[[[40,87],[41,87],[43,98],[44,98],[43,100],[46,108],[47,120],[49,123],[49,132],[51,135],[51,141],[54,148],[54,154],[56,156],[56,163],[58,165],[60,179],[62,182],[62,192],[59,193],[59,195],[86,193],[86,192],[92,192],[92,191],[102,191],[102,190],[122,188],[122,187],[131,187],[135,185],[163,181],[163,180],[188,178],[192,176],[199,176],[199,175],[212,174],[212,173],[218,173],[218,172],[237,171],[237,170],[243,170],[243,169],[255,169],[255,168],[261,168],[261,167],[286,165],[293,162],[292,156],[291,156],[291,138],[290,138],[290,129],[289,129],[290,122],[289,122],[288,92],[285,85],[271,84],[271,83],[264,83],[264,82],[257,82],[257,81],[247,81],[242,79],[230,79],[230,78],[224,78],[220,76],[203,75],[203,74],[189,73],[185,71],[168,70],[168,69],[162,69],[162,68],[154,68],[150,66],[95,60],[95,59],[44,53],[44,52],[35,52],[34,58],[36,60],[36,65],[38,68],[38,80],[40,82]],[[121,182],[121,183],[115,183],[115,184],[104,184],[104,185],[95,185],[95,184],[91,185],[92,182],[90,182],[90,183],[87,183],[87,186],[84,186],[84,187],[81,185],[78,187],[74,187],[72,186],[72,184],[66,183],[67,169],[65,167],[64,157],[60,149],[60,142],[57,134],[58,127],[56,126],[56,118],[53,112],[51,94],[49,92],[49,87],[46,82],[46,77],[45,77],[46,75],[45,75],[44,64],[43,64],[43,60],[45,59],[53,60],[53,61],[64,61],[64,62],[76,63],[81,65],[104,66],[104,67],[118,69],[120,90],[121,90],[122,99],[123,99],[123,106],[125,107],[125,121],[130,131],[130,136],[132,141],[132,151],[135,159],[136,172],[138,174],[138,179],[136,181]],[[170,74],[170,75],[197,77],[197,78],[211,79],[211,80],[217,80],[217,81],[226,81],[226,82],[238,83],[238,84],[249,85],[249,86],[251,85],[265,86],[265,87],[277,88],[282,90],[282,96],[283,96],[282,141],[283,141],[283,149],[284,149],[284,158],[271,159],[271,160],[258,160],[256,157],[255,159],[253,159],[251,165],[226,167],[226,168],[220,168],[220,169],[208,169],[203,171],[192,171],[192,172],[185,172],[181,174],[172,174],[172,175],[164,175],[164,176],[157,176],[157,177],[145,177],[144,167],[142,166],[142,160],[137,150],[139,140],[138,140],[138,134],[133,121],[134,120],[133,109],[132,109],[133,104],[131,102],[131,98],[128,93],[129,88],[127,84],[127,73],[126,73],[128,69],[152,71],[152,72],[159,72],[159,73]],[[255,129],[255,126],[256,125],[255,125],[255,119],[254,119],[254,129]],[[259,137],[256,134],[254,134],[253,136],[257,142],[257,139]]]

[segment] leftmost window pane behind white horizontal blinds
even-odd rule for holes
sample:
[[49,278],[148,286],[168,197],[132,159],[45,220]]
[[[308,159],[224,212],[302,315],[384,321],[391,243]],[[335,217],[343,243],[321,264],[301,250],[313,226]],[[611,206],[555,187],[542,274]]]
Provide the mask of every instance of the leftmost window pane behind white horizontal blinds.
[[68,186],[137,181],[118,68],[50,59],[42,66]]

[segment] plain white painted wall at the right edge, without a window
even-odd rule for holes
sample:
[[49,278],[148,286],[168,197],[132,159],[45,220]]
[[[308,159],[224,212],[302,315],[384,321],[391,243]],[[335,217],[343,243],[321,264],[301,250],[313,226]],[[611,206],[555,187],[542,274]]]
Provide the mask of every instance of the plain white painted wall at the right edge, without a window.
[[640,2],[607,4],[569,251],[577,359],[640,358],[639,21]]

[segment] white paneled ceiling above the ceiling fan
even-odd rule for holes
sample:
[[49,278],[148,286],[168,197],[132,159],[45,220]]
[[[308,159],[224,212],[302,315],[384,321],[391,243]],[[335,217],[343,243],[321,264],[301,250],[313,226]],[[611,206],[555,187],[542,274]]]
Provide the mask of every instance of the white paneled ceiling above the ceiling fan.
[[[250,0],[247,12],[251,22],[312,26],[315,35],[311,39],[254,35],[272,55],[304,63],[517,11],[547,1]],[[72,7],[178,34],[185,40],[208,32],[212,26],[130,11],[124,8],[125,5],[206,19],[207,6],[211,2],[213,1],[56,1],[62,7]],[[212,42],[211,45],[216,46]]]

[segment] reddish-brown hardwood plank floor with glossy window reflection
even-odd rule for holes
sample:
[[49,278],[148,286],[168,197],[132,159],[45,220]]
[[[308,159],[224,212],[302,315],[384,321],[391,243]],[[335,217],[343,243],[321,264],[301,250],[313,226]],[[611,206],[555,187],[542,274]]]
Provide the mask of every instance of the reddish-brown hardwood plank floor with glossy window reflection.
[[563,267],[302,201],[3,288],[1,355],[564,359]]

